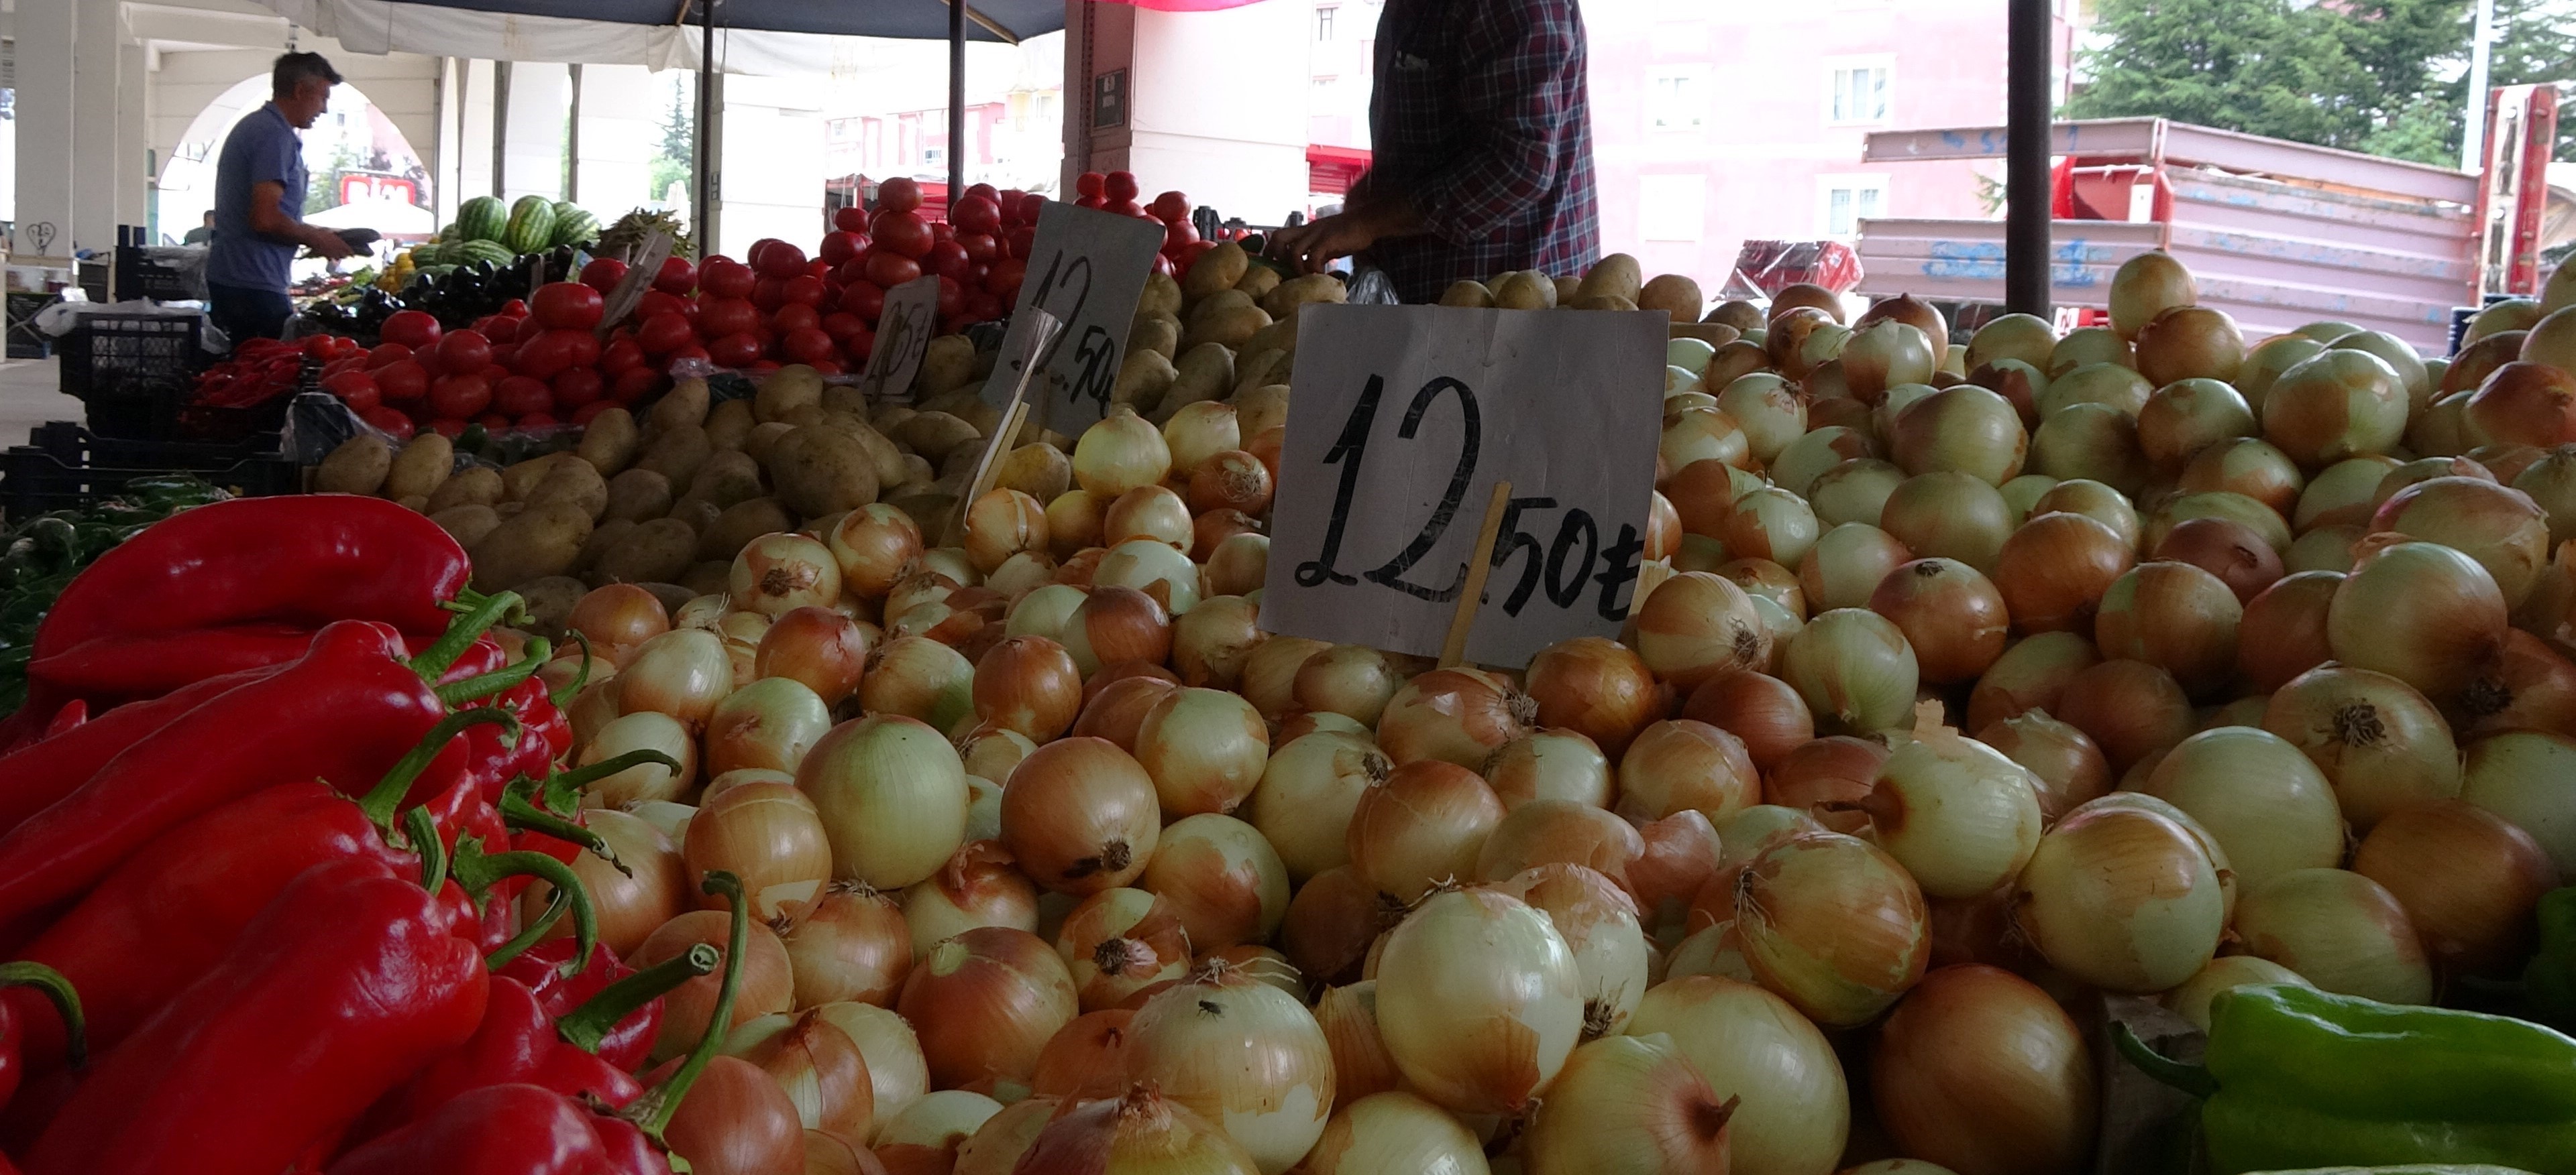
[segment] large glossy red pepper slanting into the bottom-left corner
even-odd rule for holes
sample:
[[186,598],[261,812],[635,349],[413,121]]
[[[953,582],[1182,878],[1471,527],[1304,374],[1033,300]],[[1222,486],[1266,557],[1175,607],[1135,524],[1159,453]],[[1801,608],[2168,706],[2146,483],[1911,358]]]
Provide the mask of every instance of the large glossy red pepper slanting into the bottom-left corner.
[[384,861],[307,869],[90,1070],[31,1175],[276,1175],[482,1023],[451,902]]

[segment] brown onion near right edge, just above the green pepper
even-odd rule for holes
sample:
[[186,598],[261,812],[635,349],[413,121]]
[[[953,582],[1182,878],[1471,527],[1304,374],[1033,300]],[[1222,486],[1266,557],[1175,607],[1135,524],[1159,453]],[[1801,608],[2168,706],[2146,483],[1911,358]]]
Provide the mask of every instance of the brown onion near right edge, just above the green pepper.
[[2504,974],[2532,949],[2532,910],[2558,887],[2540,841],[2463,800],[2391,812],[2352,854],[2424,938],[2445,974]]

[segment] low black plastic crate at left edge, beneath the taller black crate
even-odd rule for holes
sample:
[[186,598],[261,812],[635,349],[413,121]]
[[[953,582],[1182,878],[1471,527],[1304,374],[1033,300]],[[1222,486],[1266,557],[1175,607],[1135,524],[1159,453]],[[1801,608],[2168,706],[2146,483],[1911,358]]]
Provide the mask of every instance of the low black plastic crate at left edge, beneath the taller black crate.
[[299,494],[304,471],[278,453],[278,437],[232,445],[100,437],[72,422],[39,424],[26,445],[0,453],[0,509],[13,519],[90,507],[137,478],[188,473],[240,496]]

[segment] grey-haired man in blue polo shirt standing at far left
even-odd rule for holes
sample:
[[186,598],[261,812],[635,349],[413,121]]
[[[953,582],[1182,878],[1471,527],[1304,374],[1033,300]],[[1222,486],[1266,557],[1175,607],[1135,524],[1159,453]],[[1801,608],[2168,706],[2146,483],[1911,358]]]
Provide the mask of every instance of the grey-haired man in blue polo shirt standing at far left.
[[214,165],[214,244],[206,301],[214,324],[242,339],[276,339],[294,314],[286,301],[296,247],[348,257],[340,234],[304,224],[304,139],[322,118],[340,75],[322,54],[283,54],[268,75],[268,105],[250,111]]

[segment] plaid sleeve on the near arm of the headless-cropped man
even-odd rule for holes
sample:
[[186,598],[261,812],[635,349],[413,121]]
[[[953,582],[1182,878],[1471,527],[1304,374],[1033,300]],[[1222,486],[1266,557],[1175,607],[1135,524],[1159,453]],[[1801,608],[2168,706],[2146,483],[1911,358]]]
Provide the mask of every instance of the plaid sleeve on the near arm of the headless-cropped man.
[[1453,95],[1466,152],[1412,188],[1422,224],[1471,242],[1528,219],[1558,183],[1558,136],[1579,126],[1582,15],[1564,3],[1497,0],[1468,5],[1458,28],[1463,59]]

